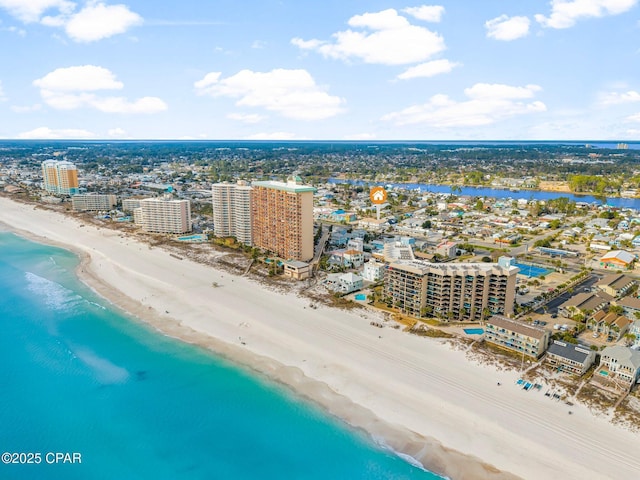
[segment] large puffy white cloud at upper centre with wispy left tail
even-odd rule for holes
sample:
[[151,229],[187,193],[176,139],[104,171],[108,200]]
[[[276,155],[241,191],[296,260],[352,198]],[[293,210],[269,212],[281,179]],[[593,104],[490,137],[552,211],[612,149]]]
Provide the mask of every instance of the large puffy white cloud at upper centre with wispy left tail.
[[324,57],[340,60],[356,58],[365,63],[406,65],[423,62],[445,49],[443,38],[427,28],[412,25],[395,9],[351,17],[350,27],[336,32],[333,41],[293,38],[302,50],[316,50]]

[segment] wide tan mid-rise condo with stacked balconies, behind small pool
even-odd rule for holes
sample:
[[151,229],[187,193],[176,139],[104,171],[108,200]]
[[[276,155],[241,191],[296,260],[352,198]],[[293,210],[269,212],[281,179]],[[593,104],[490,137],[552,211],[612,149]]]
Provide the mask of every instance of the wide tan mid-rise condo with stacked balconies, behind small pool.
[[398,261],[385,272],[384,294],[411,316],[480,321],[513,313],[518,271],[507,263]]

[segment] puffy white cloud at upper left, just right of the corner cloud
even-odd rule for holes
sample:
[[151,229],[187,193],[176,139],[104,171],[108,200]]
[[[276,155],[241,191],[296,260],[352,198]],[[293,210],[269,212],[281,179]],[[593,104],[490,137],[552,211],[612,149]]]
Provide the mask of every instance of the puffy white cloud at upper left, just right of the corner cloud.
[[76,42],[95,42],[124,33],[141,23],[142,17],[126,5],[92,2],[69,18],[65,31]]

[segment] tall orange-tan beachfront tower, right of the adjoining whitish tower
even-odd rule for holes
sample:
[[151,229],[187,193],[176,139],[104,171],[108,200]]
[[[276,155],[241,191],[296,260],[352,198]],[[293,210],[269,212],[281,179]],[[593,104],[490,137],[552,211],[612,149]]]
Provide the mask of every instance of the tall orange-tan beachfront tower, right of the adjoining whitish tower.
[[253,182],[253,245],[285,260],[313,258],[313,192],[299,177],[284,182]]

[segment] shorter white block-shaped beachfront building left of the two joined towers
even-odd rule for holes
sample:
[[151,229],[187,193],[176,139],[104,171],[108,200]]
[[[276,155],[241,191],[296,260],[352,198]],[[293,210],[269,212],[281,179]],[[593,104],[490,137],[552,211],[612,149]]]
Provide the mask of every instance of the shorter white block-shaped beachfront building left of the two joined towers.
[[145,232],[186,233],[191,231],[191,204],[189,200],[145,198],[133,211],[133,218]]

